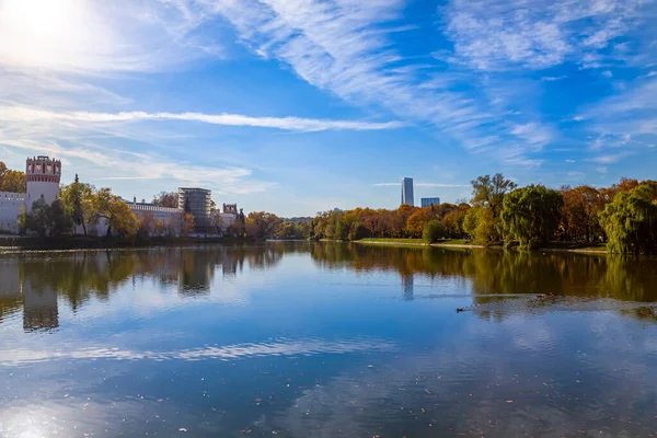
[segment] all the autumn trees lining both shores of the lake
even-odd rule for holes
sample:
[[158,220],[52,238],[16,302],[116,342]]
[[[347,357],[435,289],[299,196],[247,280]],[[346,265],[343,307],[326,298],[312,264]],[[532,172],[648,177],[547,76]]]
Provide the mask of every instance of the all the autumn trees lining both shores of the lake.
[[[355,208],[293,220],[266,211],[244,215],[240,210],[229,227],[216,223],[209,237],[657,253],[655,181],[621,178],[610,187],[553,189],[534,184],[519,187],[497,173],[479,176],[471,184],[471,199],[426,208]],[[0,162],[0,191],[20,192],[24,185],[24,173],[9,171]],[[154,196],[153,204],[177,207],[177,197],[162,192]],[[37,200],[31,211],[23,209],[18,220],[20,228],[42,239],[66,240],[74,238],[80,228],[87,235],[87,226],[101,219],[107,227],[105,240],[112,235],[124,245],[188,238],[195,223],[194,216],[184,210],[168,222],[155,220],[152,214],[137,218],[110,188],[96,189],[81,183],[77,175],[73,183],[60,187],[59,199],[49,205]]]

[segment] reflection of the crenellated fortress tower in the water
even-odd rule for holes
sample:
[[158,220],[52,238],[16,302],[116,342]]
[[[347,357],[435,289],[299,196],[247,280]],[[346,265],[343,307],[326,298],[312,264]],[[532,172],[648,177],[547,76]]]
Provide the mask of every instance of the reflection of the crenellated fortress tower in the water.
[[53,330],[59,326],[57,291],[48,288],[34,288],[30,280],[23,284],[23,330],[34,332]]

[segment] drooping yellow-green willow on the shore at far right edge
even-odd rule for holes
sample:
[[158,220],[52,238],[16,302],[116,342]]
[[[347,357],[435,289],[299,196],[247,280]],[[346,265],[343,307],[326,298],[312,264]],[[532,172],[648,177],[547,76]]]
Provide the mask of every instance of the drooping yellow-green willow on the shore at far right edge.
[[610,253],[657,252],[657,205],[653,189],[642,184],[619,192],[600,212],[600,224],[607,233]]

